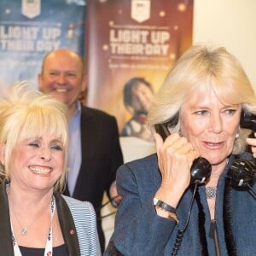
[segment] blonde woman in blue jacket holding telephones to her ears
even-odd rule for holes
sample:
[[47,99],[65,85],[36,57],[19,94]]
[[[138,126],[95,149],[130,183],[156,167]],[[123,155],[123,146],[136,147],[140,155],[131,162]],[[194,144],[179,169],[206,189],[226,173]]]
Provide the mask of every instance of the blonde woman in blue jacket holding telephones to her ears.
[[[157,154],[117,172],[123,201],[106,255],[255,254],[256,184],[252,179],[251,191],[230,183],[236,158],[256,169],[256,139],[241,129],[242,111],[255,116],[256,96],[234,55],[203,44],[183,54],[148,112],[151,129],[161,124],[170,135],[164,141],[154,133]],[[212,172],[195,190],[190,168],[198,157]],[[231,170],[239,176],[236,167]]]

